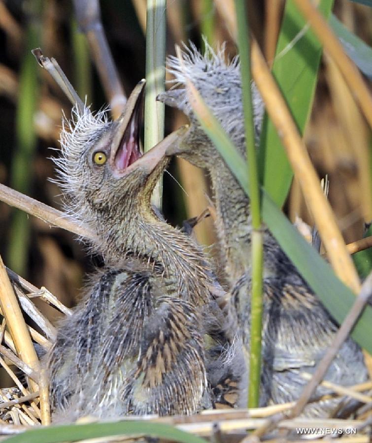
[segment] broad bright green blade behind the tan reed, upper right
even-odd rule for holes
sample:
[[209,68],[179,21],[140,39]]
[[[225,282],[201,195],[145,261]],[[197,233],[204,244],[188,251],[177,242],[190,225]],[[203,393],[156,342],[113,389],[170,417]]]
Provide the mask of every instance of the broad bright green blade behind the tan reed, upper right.
[[[327,19],[333,0],[320,0],[318,8]],[[310,116],[322,46],[306,24],[294,1],[286,2],[272,73],[287,101],[300,133]],[[269,61],[270,62],[270,61]],[[293,172],[274,125],[264,118],[259,153],[262,183],[281,207],[288,195]]]

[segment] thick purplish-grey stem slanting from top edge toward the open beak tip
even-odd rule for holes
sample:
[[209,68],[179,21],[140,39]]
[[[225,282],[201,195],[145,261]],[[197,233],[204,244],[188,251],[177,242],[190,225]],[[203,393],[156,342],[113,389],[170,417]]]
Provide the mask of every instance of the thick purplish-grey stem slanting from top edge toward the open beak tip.
[[98,0],[74,0],[79,29],[86,35],[111,114],[117,119],[127,101],[101,22]]

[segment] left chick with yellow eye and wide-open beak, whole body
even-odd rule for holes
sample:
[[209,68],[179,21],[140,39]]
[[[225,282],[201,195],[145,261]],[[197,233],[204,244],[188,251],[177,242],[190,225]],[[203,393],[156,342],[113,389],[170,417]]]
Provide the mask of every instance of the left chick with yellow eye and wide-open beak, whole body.
[[[169,159],[162,144],[141,153],[143,91],[141,81],[115,122],[75,108],[61,133],[65,206],[96,233],[105,266],[46,358],[54,421],[188,414],[212,402],[203,335],[221,289],[200,248],[151,206]],[[229,348],[223,331],[211,335]]]

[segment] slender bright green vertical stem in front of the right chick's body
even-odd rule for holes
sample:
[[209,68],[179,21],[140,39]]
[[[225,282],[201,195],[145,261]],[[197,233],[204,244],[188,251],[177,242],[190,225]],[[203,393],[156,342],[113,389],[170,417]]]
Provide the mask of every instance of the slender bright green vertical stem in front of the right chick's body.
[[[236,0],[237,44],[240,56],[241,87],[244,109],[245,144],[250,185],[250,212],[252,217],[252,294],[250,325],[250,362],[248,407],[257,408],[260,400],[261,336],[262,336],[262,272],[263,238],[261,229],[260,183],[256,158],[251,96],[250,37],[244,0]],[[248,221],[247,221],[248,222]],[[247,294],[248,295],[248,294]]]

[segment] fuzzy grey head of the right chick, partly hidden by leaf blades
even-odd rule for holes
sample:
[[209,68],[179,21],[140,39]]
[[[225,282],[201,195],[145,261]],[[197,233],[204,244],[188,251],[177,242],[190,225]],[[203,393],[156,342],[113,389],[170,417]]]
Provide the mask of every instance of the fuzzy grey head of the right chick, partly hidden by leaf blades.
[[[245,152],[245,137],[238,59],[234,58],[226,63],[224,45],[217,52],[213,51],[206,42],[205,47],[204,55],[191,44],[190,49],[185,47],[181,53],[181,60],[173,56],[168,58],[168,71],[174,76],[174,80],[170,82],[174,85],[167,92],[158,95],[157,99],[183,111],[191,123],[189,131],[179,139],[172,153],[186,158],[197,166],[210,169],[215,166],[219,157],[190,105],[187,80],[195,86],[242,153]],[[263,105],[255,89],[253,92],[255,128],[258,136]]]

